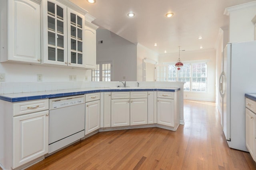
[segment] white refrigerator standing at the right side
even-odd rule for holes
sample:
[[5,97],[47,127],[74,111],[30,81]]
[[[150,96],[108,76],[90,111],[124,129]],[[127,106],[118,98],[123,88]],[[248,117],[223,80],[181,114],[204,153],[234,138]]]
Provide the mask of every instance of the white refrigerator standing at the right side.
[[245,93],[256,93],[256,41],[228,43],[222,57],[219,91],[221,125],[233,149],[246,149]]

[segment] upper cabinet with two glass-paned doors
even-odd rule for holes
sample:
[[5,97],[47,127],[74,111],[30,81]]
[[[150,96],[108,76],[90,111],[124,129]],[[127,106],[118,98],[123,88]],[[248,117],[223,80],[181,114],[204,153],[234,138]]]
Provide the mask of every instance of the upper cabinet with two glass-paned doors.
[[84,68],[84,15],[56,0],[43,0],[42,18],[43,63]]

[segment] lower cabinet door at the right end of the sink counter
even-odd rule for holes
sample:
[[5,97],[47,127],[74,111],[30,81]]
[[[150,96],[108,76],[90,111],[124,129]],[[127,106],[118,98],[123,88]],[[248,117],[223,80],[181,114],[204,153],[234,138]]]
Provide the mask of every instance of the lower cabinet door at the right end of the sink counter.
[[157,99],[157,123],[174,127],[174,100]]

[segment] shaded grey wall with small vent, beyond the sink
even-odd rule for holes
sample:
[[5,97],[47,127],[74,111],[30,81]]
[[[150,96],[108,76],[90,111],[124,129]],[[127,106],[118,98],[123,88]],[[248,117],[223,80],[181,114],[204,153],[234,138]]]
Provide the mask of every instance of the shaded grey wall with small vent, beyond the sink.
[[[97,62],[112,61],[112,81],[137,80],[137,47],[130,41],[107,29],[97,29]],[[98,44],[98,41],[103,41]],[[125,77],[125,78],[124,78]]]

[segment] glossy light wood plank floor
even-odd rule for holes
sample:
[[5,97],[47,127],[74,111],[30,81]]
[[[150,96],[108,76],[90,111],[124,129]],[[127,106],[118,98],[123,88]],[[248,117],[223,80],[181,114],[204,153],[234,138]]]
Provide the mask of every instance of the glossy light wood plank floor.
[[214,103],[184,102],[185,125],[100,132],[63,149],[28,170],[166,169],[249,170],[248,152],[230,149]]

